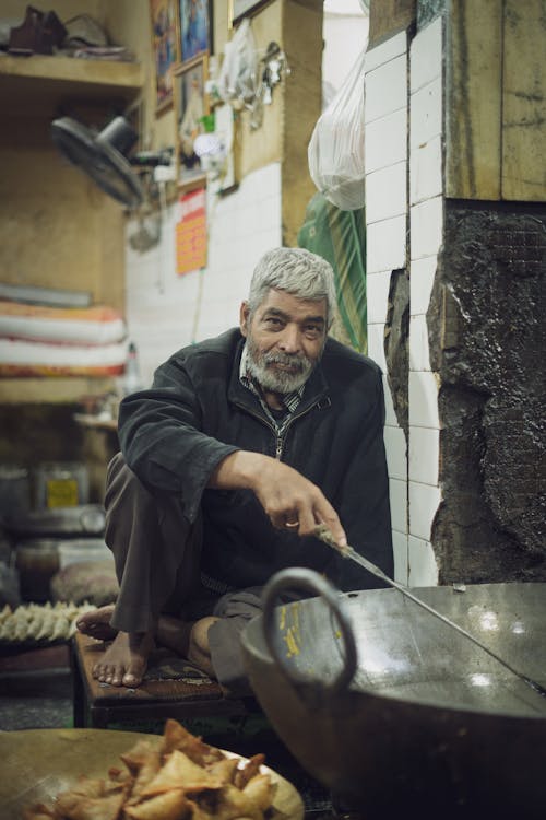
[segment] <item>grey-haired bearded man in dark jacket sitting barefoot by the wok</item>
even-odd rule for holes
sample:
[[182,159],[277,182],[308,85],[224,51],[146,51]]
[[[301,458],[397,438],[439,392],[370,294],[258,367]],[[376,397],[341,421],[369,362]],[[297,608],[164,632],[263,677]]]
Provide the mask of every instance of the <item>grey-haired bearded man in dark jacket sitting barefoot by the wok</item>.
[[392,575],[381,372],[328,338],[334,308],[325,260],[271,250],[240,327],[178,351],[121,402],[105,499],[120,591],[79,623],[115,636],[98,680],[138,686],[157,640],[244,687],[239,634],[274,572],[380,585],[314,538],[319,524]]

